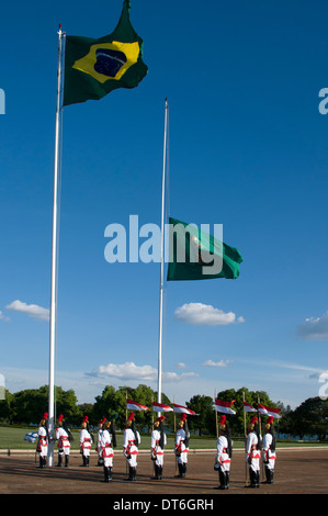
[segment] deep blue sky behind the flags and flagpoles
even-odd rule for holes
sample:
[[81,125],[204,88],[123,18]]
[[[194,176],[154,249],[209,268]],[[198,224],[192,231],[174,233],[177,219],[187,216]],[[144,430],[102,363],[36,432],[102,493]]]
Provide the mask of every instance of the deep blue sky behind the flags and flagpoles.
[[[57,29],[101,37],[123,1],[2,8],[0,373],[48,382]],[[170,214],[223,224],[237,280],[166,285],[162,391],[267,391],[292,407],[328,369],[325,1],[132,0],[138,88],[66,106],[57,384],[157,386],[159,263],[109,263],[105,227],[160,224],[165,99]],[[143,239],[140,239],[143,242]],[[35,306],[33,306],[35,305]],[[230,314],[230,315],[229,315]]]

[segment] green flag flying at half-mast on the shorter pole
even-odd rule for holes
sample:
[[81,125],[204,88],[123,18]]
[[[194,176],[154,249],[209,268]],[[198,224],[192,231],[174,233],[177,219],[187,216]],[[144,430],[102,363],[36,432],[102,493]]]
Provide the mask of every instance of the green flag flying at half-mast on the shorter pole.
[[240,253],[216,236],[169,218],[168,281],[236,279],[241,261]]

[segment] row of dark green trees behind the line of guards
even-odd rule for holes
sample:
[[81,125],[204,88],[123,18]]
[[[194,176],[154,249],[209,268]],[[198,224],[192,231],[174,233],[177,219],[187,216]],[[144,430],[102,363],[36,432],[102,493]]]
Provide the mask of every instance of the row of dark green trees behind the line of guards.
[[[48,406],[48,385],[39,389],[27,389],[14,394],[5,390],[4,400],[0,401],[0,422],[9,425],[37,425],[42,415],[47,412]],[[257,407],[258,403],[270,407],[280,408],[281,418],[275,420],[279,426],[279,434],[287,434],[299,439],[305,436],[316,436],[325,440],[328,435],[328,400],[320,397],[310,397],[305,400],[295,410],[289,405],[284,406],[281,402],[273,402],[264,391],[249,391],[246,388],[238,390],[228,389],[216,394],[218,400],[231,402],[235,400],[234,410],[236,414],[227,415],[231,433],[234,436],[245,436],[245,414],[244,400]],[[117,414],[116,427],[124,428],[127,411],[126,399],[134,400],[137,403],[146,405],[149,411],[135,412],[136,425],[142,431],[150,429],[157,414],[151,410],[151,403],[157,401],[157,393],[147,385],[139,384],[133,389],[129,386],[120,386],[115,389],[106,385],[101,395],[95,396],[94,403],[78,404],[73,390],[65,391],[60,386],[55,389],[56,414],[63,414],[66,422],[71,427],[80,427],[84,416],[89,417],[92,426],[97,427],[102,418],[110,418]],[[214,411],[214,400],[212,396],[196,394],[185,406],[194,411],[197,416],[189,417],[189,427],[191,431],[197,435],[216,435],[217,417],[219,414]],[[162,394],[161,403],[172,405],[172,402]],[[247,419],[253,414],[247,414]],[[174,430],[176,418],[179,414],[166,413],[166,428],[169,431]],[[263,417],[263,416],[262,416]],[[265,416],[263,420],[265,420]]]

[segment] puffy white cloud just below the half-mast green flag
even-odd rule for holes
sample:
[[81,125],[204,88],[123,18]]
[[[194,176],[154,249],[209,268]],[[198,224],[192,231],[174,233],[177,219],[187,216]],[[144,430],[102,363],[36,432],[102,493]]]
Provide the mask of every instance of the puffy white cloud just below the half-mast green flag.
[[234,312],[225,313],[210,304],[203,303],[185,303],[176,310],[174,315],[177,319],[183,323],[195,325],[216,326],[245,322],[244,317],[236,319]]

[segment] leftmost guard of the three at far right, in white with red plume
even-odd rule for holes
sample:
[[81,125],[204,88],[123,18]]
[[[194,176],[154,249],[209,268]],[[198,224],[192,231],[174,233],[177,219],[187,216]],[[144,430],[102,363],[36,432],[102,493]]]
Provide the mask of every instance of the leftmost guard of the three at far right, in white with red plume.
[[219,435],[216,442],[216,462],[214,469],[218,471],[219,490],[229,489],[230,462],[233,453],[231,433],[226,416],[219,418]]

